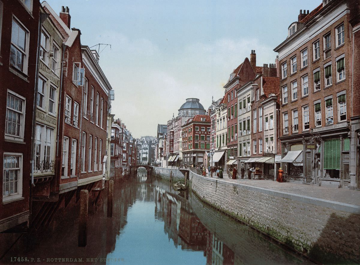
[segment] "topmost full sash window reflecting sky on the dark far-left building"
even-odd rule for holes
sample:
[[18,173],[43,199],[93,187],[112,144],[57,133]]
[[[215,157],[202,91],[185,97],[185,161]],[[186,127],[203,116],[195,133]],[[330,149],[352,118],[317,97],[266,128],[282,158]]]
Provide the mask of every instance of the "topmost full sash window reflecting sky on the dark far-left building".
[[27,73],[28,31],[13,18],[11,28],[10,65]]

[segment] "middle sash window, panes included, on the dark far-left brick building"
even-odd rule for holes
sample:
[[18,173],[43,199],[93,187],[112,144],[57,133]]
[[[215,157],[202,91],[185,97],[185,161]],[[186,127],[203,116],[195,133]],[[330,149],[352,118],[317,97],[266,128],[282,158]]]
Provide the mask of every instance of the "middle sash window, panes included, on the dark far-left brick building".
[[8,90],[5,114],[5,137],[24,139],[25,99]]

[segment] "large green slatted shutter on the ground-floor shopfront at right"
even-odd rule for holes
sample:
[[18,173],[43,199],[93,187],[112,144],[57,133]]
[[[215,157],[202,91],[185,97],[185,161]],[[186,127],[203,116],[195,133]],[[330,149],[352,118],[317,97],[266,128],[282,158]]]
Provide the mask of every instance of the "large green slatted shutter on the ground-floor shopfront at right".
[[340,169],[340,139],[324,142],[324,169]]

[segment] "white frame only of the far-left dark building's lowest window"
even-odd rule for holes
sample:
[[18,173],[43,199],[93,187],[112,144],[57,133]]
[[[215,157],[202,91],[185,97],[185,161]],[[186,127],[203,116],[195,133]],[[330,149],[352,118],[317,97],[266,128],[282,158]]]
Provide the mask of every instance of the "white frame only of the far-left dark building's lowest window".
[[[2,194],[2,198],[3,198],[3,203],[5,202],[9,202],[10,200],[14,200],[14,199],[19,199],[22,198],[22,182],[23,182],[23,154],[22,153],[10,153],[10,152],[4,152],[3,154],[3,164],[4,163],[4,159],[5,156],[17,156],[19,158],[19,162],[18,162],[18,167],[9,167],[9,168],[3,168],[3,181],[2,181],[2,185],[3,185],[3,194]],[[11,165],[10,165],[11,166]],[[5,188],[4,188],[4,180],[6,180],[5,178],[5,171],[6,170],[17,170],[18,171],[18,180],[17,180],[17,193],[13,193],[13,194],[8,194],[5,195]],[[10,174],[10,172],[9,172]],[[9,182],[10,182],[10,176],[9,176]]]

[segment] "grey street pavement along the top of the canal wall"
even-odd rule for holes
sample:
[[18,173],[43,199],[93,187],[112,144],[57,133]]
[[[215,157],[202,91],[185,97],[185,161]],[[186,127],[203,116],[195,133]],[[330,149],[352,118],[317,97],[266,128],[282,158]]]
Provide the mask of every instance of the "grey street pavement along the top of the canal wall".
[[249,180],[241,178],[233,180],[228,177],[218,180],[360,206],[360,191],[357,190],[297,184],[292,182],[280,183],[273,180]]

